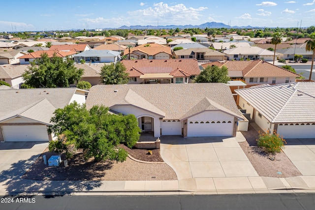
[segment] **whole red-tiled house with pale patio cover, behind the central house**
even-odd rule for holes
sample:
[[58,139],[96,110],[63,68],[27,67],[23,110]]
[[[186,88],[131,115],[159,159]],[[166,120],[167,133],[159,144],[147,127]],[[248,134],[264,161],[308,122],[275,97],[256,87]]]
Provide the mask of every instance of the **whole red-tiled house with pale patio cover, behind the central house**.
[[195,59],[122,60],[129,84],[189,83],[200,74]]

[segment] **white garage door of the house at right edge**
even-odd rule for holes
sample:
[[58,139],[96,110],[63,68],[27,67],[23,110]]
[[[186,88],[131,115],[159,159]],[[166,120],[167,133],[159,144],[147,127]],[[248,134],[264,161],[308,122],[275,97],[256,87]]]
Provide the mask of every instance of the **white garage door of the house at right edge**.
[[284,138],[315,138],[315,124],[313,123],[293,123],[293,125],[282,124],[278,125],[277,132],[283,135]]

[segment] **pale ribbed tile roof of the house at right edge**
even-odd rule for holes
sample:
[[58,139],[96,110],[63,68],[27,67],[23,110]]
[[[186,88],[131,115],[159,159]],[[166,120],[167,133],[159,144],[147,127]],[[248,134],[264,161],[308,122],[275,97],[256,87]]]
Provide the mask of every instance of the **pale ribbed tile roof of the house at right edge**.
[[315,122],[315,82],[235,90],[273,123]]

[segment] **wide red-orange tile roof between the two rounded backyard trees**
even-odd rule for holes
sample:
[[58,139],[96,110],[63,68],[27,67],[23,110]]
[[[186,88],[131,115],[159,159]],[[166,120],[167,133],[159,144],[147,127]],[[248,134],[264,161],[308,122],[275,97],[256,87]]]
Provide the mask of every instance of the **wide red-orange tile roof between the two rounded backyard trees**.
[[[200,69],[195,59],[142,59],[121,61],[129,74],[129,77],[138,77],[148,73],[172,73],[177,75],[198,75]],[[176,76],[175,76],[176,75]]]

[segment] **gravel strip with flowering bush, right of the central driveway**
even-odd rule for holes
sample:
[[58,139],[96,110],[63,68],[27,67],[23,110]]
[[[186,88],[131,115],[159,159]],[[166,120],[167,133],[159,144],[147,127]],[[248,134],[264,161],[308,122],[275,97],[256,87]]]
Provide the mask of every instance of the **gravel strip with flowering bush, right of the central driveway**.
[[[241,131],[247,141],[239,143],[252,166],[260,177],[288,178],[302,176],[291,160],[283,151],[268,154],[257,147],[258,132],[249,125],[248,131]],[[275,160],[269,158],[274,157]]]

